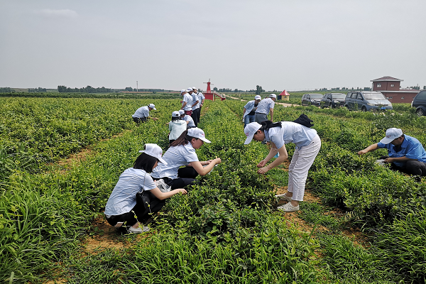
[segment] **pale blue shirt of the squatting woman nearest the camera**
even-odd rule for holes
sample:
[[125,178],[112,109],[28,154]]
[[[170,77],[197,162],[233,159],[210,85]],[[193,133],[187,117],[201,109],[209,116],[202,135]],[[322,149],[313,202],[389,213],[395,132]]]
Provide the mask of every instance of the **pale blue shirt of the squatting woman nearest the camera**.
[[128,168],[120,175],[105,206],[106,215],[121,215],[131,212],[136,205],[136,193],[157,187],[145,170]]

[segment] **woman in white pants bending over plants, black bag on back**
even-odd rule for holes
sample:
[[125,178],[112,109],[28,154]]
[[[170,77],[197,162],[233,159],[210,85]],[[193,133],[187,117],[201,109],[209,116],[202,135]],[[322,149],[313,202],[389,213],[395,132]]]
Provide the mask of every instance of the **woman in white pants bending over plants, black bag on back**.
[[[288,192],[276,197],[288,201],[287,204],[278,207],[279,210],[284,212],[299,210],[299,202],[303,201],[303,195],[305,195],[307,172],[321,148],[321,140],[317,131],[293,121],[280,121],[275,124],[272,121],[263,121],[262,124],[257,122],[247,124],[244,133],[247,136],[244,144],[249,144],[251,140],[271,141],[271,151],[257,165],[260,168],[258,173],[261,174],[267,173],[271,168],[275,168],[287,160],[285,144],[295,143],[295,153],[288,167]],[[266,165],[277,151],[278,158]]]

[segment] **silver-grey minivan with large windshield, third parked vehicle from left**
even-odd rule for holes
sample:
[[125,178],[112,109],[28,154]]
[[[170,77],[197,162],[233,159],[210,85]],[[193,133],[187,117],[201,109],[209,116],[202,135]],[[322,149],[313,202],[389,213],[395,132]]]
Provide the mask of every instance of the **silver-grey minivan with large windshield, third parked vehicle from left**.
[[391,102],[381,92],[377,91],[348,92],[344,106],[349,110],[361,109],[361,111],[393,109]]

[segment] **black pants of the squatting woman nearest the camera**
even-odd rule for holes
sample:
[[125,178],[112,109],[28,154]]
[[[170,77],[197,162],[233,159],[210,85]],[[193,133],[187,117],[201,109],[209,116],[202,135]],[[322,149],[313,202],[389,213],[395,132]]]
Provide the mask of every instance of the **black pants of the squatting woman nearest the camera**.
[[123,229],[120,230],[120,231],[123,231],[124,233],[126,232],[127,226],[133,226],[134,224],[136,224],[136,222],[145,224],[148,221],[148,219],[151,218],[151,214],[155,214],[158,211],[160,211],[161,208],[163,208],[165,204],[165,200],[159,200],[149,190],[146,190],[143,194],[148,195],[149,197],[149,200],[150,200],[149,209],[151,209],[151,211],[149,209],[145,209],[143,204],[139,204],[138,202],[136,202],[136,205],[135,207],[133,207],[133,209],[131,209],[131,212],[127,212],[121,215],[111,216],[110,218],[107,218],[107,222],[111,226],[115,226],[118,222],[125,222],[125,224],[123,224],[124,231]]

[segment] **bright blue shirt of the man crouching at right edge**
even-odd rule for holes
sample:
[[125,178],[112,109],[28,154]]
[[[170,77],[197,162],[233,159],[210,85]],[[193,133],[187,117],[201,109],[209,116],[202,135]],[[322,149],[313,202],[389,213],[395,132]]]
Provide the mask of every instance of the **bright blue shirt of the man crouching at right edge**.
[[[423,148],[422,143],[418,141],[416,138],[404,135],[404,141],[401,144],[401,150],[395,151],[395,146],[392,145],[392,143],[383,144],[383,143],[377,143],[378,148],[387,148],[388,149],[388,155],[390,158],[399,158],[399,157],[407,157],[410,159],[415,159],[420,162],[426,163],[426,151],[425,148]],[[393,162],[398,167],[405,166],[406,162]]]

